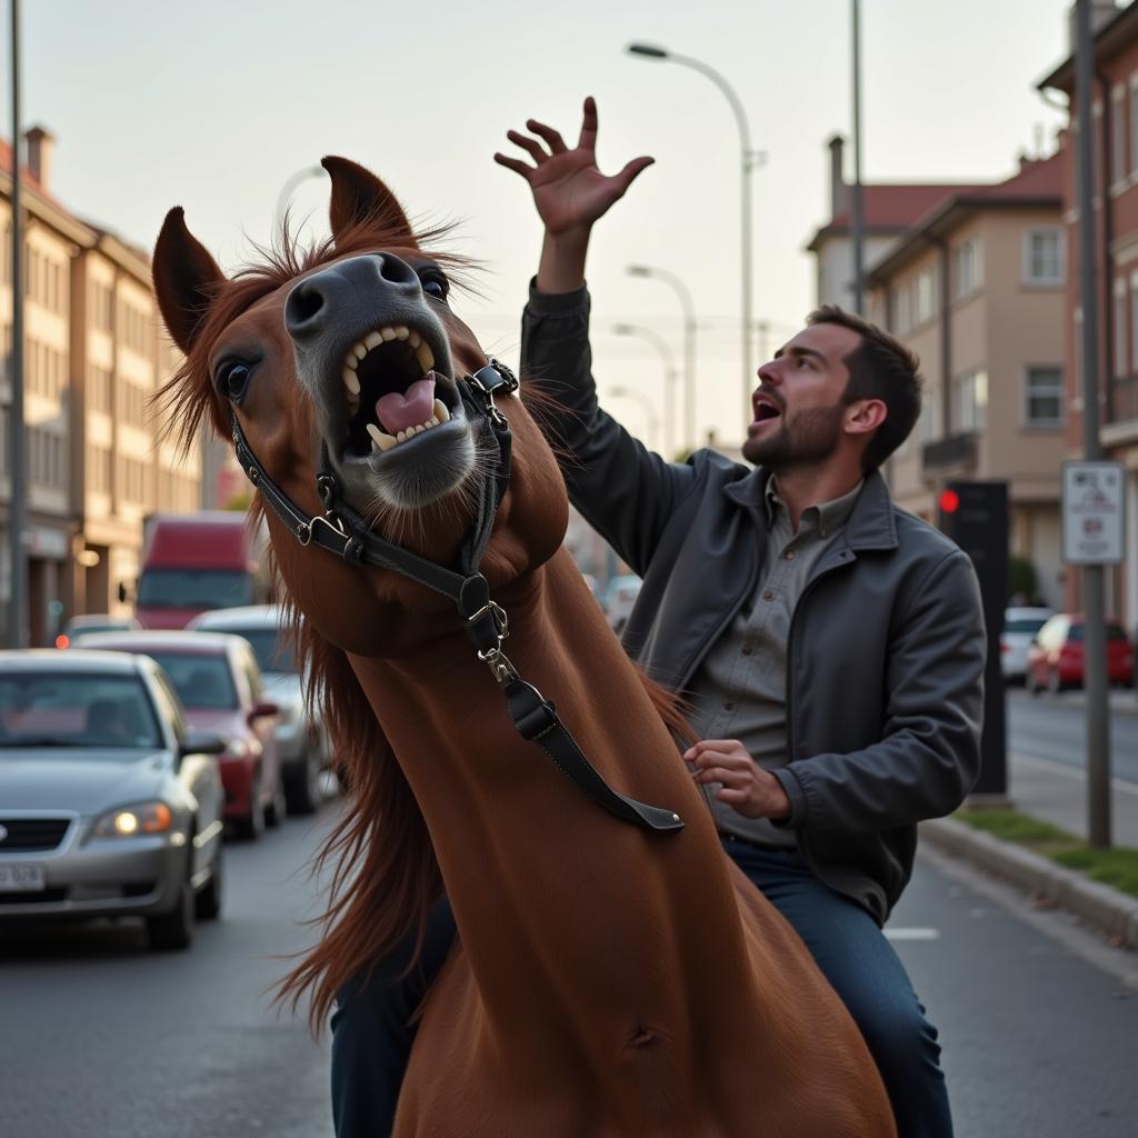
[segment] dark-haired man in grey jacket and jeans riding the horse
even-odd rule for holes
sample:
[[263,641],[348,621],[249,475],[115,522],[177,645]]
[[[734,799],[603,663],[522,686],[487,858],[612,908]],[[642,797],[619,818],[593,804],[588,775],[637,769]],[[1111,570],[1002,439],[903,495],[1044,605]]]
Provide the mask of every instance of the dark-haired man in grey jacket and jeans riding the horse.
[[[592,99],[571,149],[527,126],[536,138],[509,138],[533,165],[495,155],[529,183],[545,224],[522,377],[564,407],[554,428],[575,457],[575,505],[644,578],[625,644],[688,699],[700,742],[684,758],[724,849],[846,1003],[901,1138],[943,1138],[937,1032],[881,924],[912,872],[916,822],[955,809],[975,778],[986,642],[967,558],[896,509],[877,472],[916,422],[917,361],[822,308],[759,369],[743,448],[757,469],[710,451],[684,464],[650,453],[597,405],[585,258],[592,225],[651,159],[601,174]],[[446,917],[432,915],[444,938]],[[402,1070],[410,1032],[393,1044],[393,1024],[421,986],[407,990],[381,980],[340,1001],[338,1125],[352,1103],[372,1125],[376,1103],[394,1105],[358,1056],[370,1034],[385,1070]]]

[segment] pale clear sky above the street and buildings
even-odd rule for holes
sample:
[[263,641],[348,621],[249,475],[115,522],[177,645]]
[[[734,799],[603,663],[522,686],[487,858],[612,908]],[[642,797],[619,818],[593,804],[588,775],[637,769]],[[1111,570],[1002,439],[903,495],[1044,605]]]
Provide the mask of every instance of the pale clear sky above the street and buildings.
[[[1021,154],[1050,152],[1064,115],[1034,85],[1067,55],[1067,7],[863,0],[863,178],[996,181]],[[232,270],[270,238],[286,183],[322,155],[344,155],[380,174],[412,217],[459,222],[450,247],[485,271],[481,297],[454,306],[509,363],[541,225],[528,188],[493,154],[511,150],[506,129],[528,117],[576,138],[582,99],[594,96],[601,168],[657,159],[594,232],[602,399],[660,445],[661,353],[613,327],[663,337],[681,365],[676,295],[627,274],[633,263],[663,269],[696,312],[701,439],[715,430],[731,444],[747,420],[740,135],[706,76],[625,50],[668,48],[723,75],[765,154],[751,181],[753,314],[769,327],[766,346],[814,306],[805,247],[828,217],[826,141],[852,121],[849,0],[23,0],[20,10],[22,124],[56,135],[52,190],[74,213],[150,248],[166,211],[182,205]],[[327,179],[294,184],[304,232],[323,236]]]

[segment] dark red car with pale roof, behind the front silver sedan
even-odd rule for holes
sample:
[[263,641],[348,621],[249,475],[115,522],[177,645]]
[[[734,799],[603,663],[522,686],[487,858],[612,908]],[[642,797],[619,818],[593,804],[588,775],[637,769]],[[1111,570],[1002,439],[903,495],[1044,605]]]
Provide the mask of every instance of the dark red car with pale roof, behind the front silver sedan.
[[242,838],[259,838],[266,825],[284,817],[275,737],[280,708],[265,695],[248,641],[221,633],[143,629],[90,633],[77,637],[76,645],[146,654],[162,666],[190,726],[225,740],[225,818]]

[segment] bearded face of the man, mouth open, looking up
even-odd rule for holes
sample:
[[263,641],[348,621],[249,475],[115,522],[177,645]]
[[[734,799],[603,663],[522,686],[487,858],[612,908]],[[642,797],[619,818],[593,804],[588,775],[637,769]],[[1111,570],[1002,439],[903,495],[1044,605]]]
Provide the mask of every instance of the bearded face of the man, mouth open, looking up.
[[759,368],[743,456],[775,472],[818,465],[842,436],[849,371],[861,337],[841,324],[811,324]]

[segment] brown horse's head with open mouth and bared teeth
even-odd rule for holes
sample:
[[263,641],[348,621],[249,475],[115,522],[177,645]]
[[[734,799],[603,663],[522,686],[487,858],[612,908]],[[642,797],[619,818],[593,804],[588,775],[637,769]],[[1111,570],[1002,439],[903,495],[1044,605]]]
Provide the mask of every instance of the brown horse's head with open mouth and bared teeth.
[[[185,364],[167,396],[191,434],[236,419],[271,481],[307,514],[324,504],[325,462],[370,530],[436,563],[454,561],[497,457],[488,420],[460,394],[487,364],[451,308],[459,258],[431,251],[391,191],[344,158],[331,178],[331,238],[226,278],[166,216],[154,256],[158,305]],[[501,398],[513,437],[509,488],[481,571],[492,588],[544,563],[567,523],[556,462],[520,398]],[[325,457],[327,456],[327,457]],[[361,655],[396,655],[453,605],[387,569],[302,547],[267,512],[291,600],[322,637]]]

